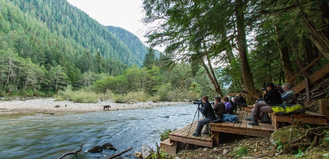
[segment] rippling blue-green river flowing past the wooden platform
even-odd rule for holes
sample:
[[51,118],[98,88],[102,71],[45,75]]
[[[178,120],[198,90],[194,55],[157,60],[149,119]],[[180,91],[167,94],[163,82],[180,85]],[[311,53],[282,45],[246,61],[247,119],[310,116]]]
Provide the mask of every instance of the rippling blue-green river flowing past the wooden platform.
[[[107,158],[131,147],[121,156],[135,158],[134,152],[140,152],[143,144],[156,150],[155,143],[160,145],[163,131],[196,121],[196,110],[197,105],[189,104],[67,115],[0,116],[0,158],[58,158],[79,149],[79,158]],[[111,143],[117,151],[87,152],[105,143]]]

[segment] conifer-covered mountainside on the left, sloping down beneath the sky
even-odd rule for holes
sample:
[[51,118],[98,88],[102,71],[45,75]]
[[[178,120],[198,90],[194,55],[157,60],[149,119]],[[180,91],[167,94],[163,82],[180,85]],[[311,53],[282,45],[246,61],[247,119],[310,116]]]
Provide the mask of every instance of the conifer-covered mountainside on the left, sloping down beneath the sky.
[[0,0],[1,92],[79,88],[95,74],[141,67],[146,47],[123,29],[115,34],[65,0]]

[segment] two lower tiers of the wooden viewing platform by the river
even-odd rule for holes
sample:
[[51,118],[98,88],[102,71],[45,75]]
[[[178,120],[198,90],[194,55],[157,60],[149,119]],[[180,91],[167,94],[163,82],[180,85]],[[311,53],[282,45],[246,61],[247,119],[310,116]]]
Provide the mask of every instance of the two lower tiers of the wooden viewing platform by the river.
[[201,136],[192,135],[195,132],[198,123],[196,121],[181,129],[169,133],[169,138],[166,141],[161,142],[160,148],[168,153],[177,153],[177,142],[212,148],[214,145],[219,144],[220,132],[269,137],[270,134],[275,131],[271,124],[260,123],[260,126],[248,125],[245,120],[247,114],[248,111],[237,111],[235,115],[239,116],[238,123],[210,123],[210,136],[208,134],[202,134]]

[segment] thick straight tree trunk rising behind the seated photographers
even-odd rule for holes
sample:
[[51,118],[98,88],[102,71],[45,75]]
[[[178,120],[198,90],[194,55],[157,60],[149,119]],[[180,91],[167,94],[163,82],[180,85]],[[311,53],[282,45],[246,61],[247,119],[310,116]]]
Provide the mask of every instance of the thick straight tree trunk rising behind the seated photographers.
[[[237,32],[237,50],[239,51],[240,55],[240,62],[241,62],[241,70],[242,70],[242,77],[243,83],[245,87],[245,91],[247,91],[251,95],[258,94],[253,83],[252,74],[250,71],[248,58],[247,58],[247,39],[246,39],[246,31],[245,31],[245,21],[244,21],[244,5],[243,1],[236,0],[235,1],[235,16],[236,16],[236,32]],[[248,97],[248,95],[247,95]],[[254,96],[252,96],[255,98]],[[248,104],[254,104],[254,99],[249,100],[247,98]]]

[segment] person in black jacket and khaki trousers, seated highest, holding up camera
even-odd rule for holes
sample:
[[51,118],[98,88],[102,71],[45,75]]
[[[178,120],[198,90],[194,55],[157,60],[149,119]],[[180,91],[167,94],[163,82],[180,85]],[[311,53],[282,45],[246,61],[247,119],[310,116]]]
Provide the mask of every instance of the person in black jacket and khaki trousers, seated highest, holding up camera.
[[272,106],[277,104],[282,104],[281,94],[272,83],[266,84],[266,89],[264,90],[264,102],[265,103],[256,103],[251,112],[250,117],[246,117],[246,120],[250,121],[249,125],[258,125],[258,119],[260,113],[270,113],[272,112]]

